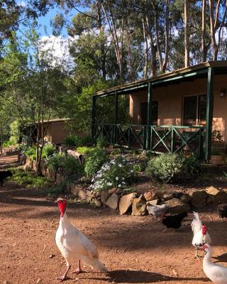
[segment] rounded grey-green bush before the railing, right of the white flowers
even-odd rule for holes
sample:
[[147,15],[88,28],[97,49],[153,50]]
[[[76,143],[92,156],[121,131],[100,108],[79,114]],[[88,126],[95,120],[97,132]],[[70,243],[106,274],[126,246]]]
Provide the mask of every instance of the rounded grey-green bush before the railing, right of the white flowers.
[[159,182],[176,182],[185,173],[185,160],[182,155],[160,154],[149,160],[145,174]]

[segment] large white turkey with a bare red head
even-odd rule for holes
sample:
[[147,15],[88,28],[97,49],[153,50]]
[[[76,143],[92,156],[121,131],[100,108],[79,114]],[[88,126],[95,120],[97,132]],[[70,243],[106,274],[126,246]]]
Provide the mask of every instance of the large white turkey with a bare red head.
[[70,224],[65,212],[67,207],[66,200],[59,198],[57,202],[61,214],[59,226],[55,234],[55,241],[58,249],[60,249],[60,252],[62,253],[62,256],[65,258],[67,266],[65,274],[57,279],[65,280],[67,278],[67,273],[71,268],[70,263],[72,263],[74,259],[78,260],[78,268],[75,273],[82,271],[80,261],[87,264],[87,266],[97,268],[102,273],[108,272],[106,266],[99,261],[99,254],[92,242],[89,241],[89,239],[87,239],[81,231],[77,230],[74,226],[72,226],[72,224]]

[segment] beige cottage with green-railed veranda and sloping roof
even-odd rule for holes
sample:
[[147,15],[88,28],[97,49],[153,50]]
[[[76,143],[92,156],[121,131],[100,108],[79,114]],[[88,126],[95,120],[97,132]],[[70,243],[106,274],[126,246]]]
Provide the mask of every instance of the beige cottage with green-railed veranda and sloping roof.
[[[214,61],[98,92],[92,100],[92,137],[155,153],[189,151],[209,160],[212,131],[227,141],[226,88],[227,61]],[[118,119],[122,95],[128,96],[128,124]],[[96,104],[109,96],[114,119],[104,124],[96,119]]]

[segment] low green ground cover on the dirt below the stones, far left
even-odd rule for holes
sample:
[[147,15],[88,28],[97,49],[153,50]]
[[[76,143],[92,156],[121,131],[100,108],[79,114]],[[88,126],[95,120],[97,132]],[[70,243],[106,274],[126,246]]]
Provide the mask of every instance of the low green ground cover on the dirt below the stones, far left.
[[11,180],[18,183],[18,185],[23,185],[27,188],[44,188],[51,185],[50,180],[44,177],[40,177],[33,172],[28,172],[22,169],[13,169],[13,176]]

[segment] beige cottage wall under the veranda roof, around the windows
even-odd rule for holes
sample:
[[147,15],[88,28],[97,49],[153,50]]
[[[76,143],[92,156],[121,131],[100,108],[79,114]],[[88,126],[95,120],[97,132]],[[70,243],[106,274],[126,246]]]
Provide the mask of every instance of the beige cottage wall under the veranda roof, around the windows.
[[[170,84],[153,89],[153,100],[158,102],[159,125],[182,125],[182,102],[184,96],[206,94],[206,78],[189,82]],[[216,75],[214,78],[214,120],[213,128],[220,130],[225,141],[227,119],[227,97],[219,97],[221,89],[227,89],[227,76]],[[140,124],[140,102],[146,102],[147,91],[133,93],[130,96],[130,115],[133,124]]]

